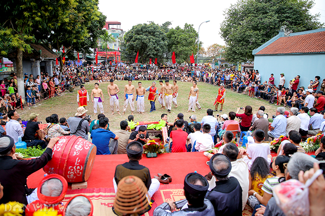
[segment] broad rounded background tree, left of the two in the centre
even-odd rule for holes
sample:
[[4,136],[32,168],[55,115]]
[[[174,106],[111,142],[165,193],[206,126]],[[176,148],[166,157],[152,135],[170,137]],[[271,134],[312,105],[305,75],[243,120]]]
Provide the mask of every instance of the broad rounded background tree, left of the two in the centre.
[[157,24],[137,24],[127,31],[122,43],[124,60],[134,62],[137,51],[138,61],[146,62],[149,58],[162,58],[167,49],[167,38],[164,30]]

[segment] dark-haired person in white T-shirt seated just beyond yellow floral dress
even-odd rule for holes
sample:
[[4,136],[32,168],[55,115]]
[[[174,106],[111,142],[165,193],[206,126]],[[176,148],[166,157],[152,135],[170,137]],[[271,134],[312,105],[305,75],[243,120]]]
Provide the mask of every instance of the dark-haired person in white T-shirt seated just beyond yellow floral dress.
[[269,164],[271,163],[271,152],[267,143],[262,143],[264,140],[264,131],[256,130],[254,133],[255,143],[249,144],[246,149],[240,149],[239,154],[243,156],[244,162],[246,162],[248,169],[254,163],[257,157],[264,158]]

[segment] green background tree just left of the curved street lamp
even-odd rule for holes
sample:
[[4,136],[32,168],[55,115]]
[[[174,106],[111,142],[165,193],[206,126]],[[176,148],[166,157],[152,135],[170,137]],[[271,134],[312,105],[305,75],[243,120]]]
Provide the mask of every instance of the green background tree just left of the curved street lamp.
[[[197,32],[192,24],[185,23],[184,28],[179,26],[167,32],[168,51],[175,52],[177,63],[189,63],[189,56],[197,52]],[[200,42],[201,45],[201,42]]]

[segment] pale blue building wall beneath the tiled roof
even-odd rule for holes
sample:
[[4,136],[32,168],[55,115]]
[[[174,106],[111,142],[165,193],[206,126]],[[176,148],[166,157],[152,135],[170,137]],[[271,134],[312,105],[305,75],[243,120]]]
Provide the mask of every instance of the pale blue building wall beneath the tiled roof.
[[[325,79],[325,53],[321,54],[292,54],[292,55],[255,55],[254,69],[258,70],[261,80],[268,81],[270,74],[274,74],[274,84],[279,83],[280,73],[284,73],[285,87],[288,87],[289,80],[300,75],[299,86],[305,89],[310,80],[320,76],[319,82]],[[298,86],[298,87],[299,87]],[[319,90],[320,84],[317,87]]]

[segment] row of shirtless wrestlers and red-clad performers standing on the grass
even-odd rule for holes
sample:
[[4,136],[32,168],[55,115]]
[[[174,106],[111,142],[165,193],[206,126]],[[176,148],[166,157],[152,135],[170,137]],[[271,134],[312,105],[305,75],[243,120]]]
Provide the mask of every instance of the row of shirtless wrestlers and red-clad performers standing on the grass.
[[[133,112],[135,111],[134,108],[134,98],[137,105],[137,112],[138,114],[144,113],[144,94],[145,92],[149,92],[148,94],[148,100],[150,101],[150,112],[155,111],[155,101],[158,99],[159,104],[161,105],[160,109],[166,108],[168,113],[171,111],[171,105],[174,104],[177,108],[177,96],[178,96],[178,85],[177,81],[173,81],[173,85],[169,84],[169,80],[165,80],[164,84],[163,81],[159,81],[160,85],[160,91],[158,91],[158,88],[156,86],[156,82],[153,81],[152,85],[147,88],[142,87],[142,83],[138,82],[138,87],[135,88],[134,85],[132,85],[132,80],[128,80],[128,84],[124,86],[124,106],[123,106],[123,114],[119,112],[119,101],[117,93],[119,92],[118,86],[114,83],[113,79],[109,80],[110,84],[107,86],[107,93],[109,96],[109,103],[110,103],[110,111],[111,115],[114,115],[114,110],[119,115],[124,115],[128,104],[131,108],[131,114],[133,115]],[[199,89],[197,87],[196,80],[192,81],[192,85],[189,90],[188,95],[188,110],[187,112],[195,112],[195,108],[197,107],[198,110],[201,109],[201,106],[198,103],[198,93]],[[93,112],[96,115],[97,114],[97,106],[99,106],[100,113],[104,113],[104,109],[102,106],[103,102],[103,92],[99,87],[98,83],[94,84],[94,89],[91,90],[91,102],[93,103]],[[222,111],[223,103],[224,103],[224,97],[225,97],[225,88],[224,85],[221,84],[220,88],[218,89],[218,95],[216,96],[214,105],[215,105],[215,111],[217,111],[218,105],[220,104]],[[87,102],[89,102],[89,95],[87,90],[85,90],[85,87],[83,85],[80,86],[80,90],[77,92],[77,103],[80,106],[87,106]]]

